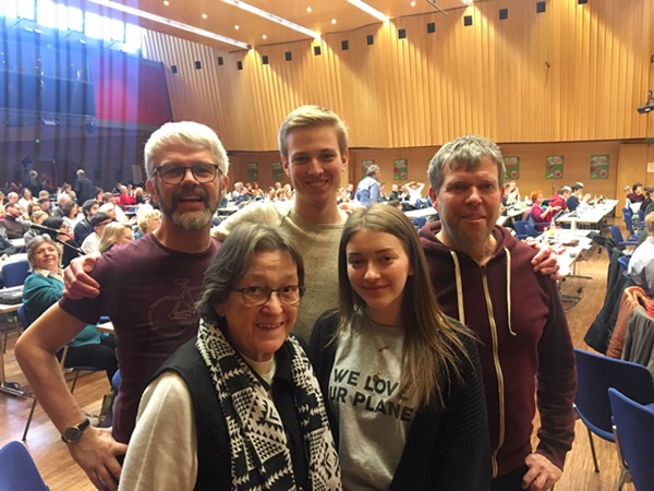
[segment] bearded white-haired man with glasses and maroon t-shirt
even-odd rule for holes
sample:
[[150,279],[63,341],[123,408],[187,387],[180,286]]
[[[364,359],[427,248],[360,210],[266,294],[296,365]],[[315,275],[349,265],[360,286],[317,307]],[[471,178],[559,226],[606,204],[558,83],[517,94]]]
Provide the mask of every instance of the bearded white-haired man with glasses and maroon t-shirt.
[[[61,300],[15,347],[36,397],[98,489],[117,489],[118,458],[126,451],[145,383],[197,332],[194,301],[219,247],[209,235],[211,217],[229,182],[222,144],[194,122],[167,123],[153,133],[145,166],[147,190],[162,212],[159,228],[106,252],[89,273],[95,298]],[[55,357],[100,315],[113,323],[122,376],[111,431],[88,426]]]

